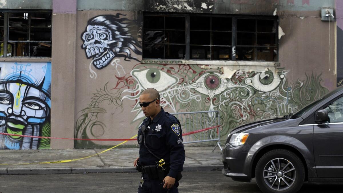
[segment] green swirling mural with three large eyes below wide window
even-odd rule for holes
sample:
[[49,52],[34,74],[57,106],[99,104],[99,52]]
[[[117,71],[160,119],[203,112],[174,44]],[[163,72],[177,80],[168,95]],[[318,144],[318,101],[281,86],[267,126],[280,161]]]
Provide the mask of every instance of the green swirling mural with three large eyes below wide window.
[[94,135],[92,127],[106,127],[97,122],[98,116],[106,113],[105,109],[98,107],[102,101],[108,101],[104,106],[111,104],[110,108],[130,108],[131,124],[140,124],[145,116],[138,104],[139,95],[152,87],[159,91],[161,106],[170,113],[219,111],[221,138],[224,140],[238,125],[295,113],[328,92],[322,86],[321,74],[305,74],[306,79],[289,83],[289,72],[277,67],[238,69],[226,78],[221,67],[138,64],[125,77],[117,77],[116,85],[106,84],[104,89],[94,93],[89,107],[80,112],[76,136],[99,137]]

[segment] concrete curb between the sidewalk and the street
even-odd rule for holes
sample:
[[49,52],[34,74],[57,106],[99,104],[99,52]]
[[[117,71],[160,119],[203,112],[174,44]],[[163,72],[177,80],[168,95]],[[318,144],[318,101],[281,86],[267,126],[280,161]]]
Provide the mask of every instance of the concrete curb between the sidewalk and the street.
[[[184,166],[184,171],[219,171],[222,165],[215,166]],[[19,175],[19,174],[69,174],[69,173],[123,173],[137,172],[133,167],[120,168],[4,168],[0,169],[0,175]]]

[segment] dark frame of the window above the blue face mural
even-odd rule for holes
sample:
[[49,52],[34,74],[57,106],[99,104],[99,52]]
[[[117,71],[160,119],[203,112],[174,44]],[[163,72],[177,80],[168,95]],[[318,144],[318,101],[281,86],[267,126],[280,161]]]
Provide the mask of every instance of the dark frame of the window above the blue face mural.
[[[42,9],[30,9],[30,10],[23,10],[23,9],[0,9],[0,12],[4,13],[4,23],[3,23],[3,47],[7,48],[8,43],[17,43],[17,42],[23,42],[23,43],[50,43],[52,47],[52,10],[42,10]],[[17,41],[17,40],[9,40],[9,15],[11,13],[50,13],[51,14],[51,24],[50,24],[50,41],[32,41],[32,40],[26,40],[26,41]],[[31,21],[31,14],[28,14],[28,19]],[[31,23],[28,26],[31,30]],[[42,27],[43,28],[43,27]],[[47,27],[48,28],[48,27]],[[29,33],[30,37],[31,33]],[[30,49],[30,46],[29,46]],[[29,53],[29,56],[7,56],[7,49],[3,49],[3,56],[1,58],[51,58],[49,56],[31,56]],[[52,49],[51,49],[51,55],[52,55]]]

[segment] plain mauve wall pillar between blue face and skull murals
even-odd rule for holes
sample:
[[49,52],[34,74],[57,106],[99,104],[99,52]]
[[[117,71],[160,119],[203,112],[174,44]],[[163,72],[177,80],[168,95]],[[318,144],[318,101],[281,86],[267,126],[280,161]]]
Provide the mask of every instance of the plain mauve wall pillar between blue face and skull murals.
[[[76,0],[54,0],[52,16],[51,136],[74,137]],[[73,148],[72,140],[51,140],[51,148]]]

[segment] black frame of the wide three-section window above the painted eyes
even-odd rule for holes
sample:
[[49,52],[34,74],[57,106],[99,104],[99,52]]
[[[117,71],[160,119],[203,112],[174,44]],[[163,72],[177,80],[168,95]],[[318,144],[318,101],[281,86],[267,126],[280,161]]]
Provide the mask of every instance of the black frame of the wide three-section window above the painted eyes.
[[[185,57],[183,59],[167,59],[165,58],[143,58],[143,60],[201,60],[201,61],[250,61],[250,62],[279,62],[279,17],[278,16],[265,16],[265,15],[234,15],[234,14],[203,14],[203,13],[162,13],[162,12],[143,12],[143,19],[142,19],[142,45],[144,47],[144,33],[145,33],[145,26],[144,26],[144,16],[184,16],[185,17],[185,39],[186,39],[186,49],[185,49]],[[190,17],[191,16],[202,16],[202,17],[219,17],[219,18],[232,18],[232,30],[231,30],[231,42],[232,45],[229,46],[232,49],[235,49],[235,52],[231,53],[231,60],[213,60],[213,59],[191,59],[190,58]],[[237,48],[237,19],[253,19],[257,22],[258,19],[261,20],[273,20],[274,21],[274,29],[275,29],[275,45],[274,46],[263,46],[263,45],[239,45],[238,47],[253,47],[254,53],[257,53],[257,48],[275,48],[276,49],[276,60],[272,61],[265,61],[265,60],[257,60],[257,54],[255,54],[253,60],[236,60],[236,48]],[[255,38],[257,44],[257,34],[263,32],[257,32],[257,25],[255,25]],[[212,32],[212,30],[211,30]],[[273,32],[265,32],[265,33],[273,33]],[[167,44],[164,44],[167,45]],[[208,45],[204,45],[208,46]],[[144,51],[144,50],[143,50]],[[210,45],[210,52],[212,57],[212,41]]]

